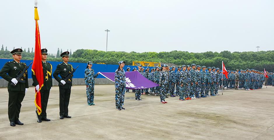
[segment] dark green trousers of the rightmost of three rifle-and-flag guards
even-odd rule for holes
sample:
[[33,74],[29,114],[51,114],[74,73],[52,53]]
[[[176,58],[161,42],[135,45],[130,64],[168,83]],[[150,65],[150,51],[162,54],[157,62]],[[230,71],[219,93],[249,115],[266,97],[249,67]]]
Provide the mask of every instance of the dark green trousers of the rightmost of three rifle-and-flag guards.
[[68,115],[68,103],[69,98],[71,96],[71,89],[61,88],[59,87],[59,107],[60,107],[60,116]]

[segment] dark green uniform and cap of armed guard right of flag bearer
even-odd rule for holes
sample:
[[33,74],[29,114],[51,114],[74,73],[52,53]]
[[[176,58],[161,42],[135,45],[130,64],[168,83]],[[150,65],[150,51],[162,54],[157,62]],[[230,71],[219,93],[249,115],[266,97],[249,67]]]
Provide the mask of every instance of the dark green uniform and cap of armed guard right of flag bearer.
[[[68,55],[69,55],[69,52],[64,52],[61,54],[61,57],[68,56]],[[53,73],[53,77],[55,78],[56,81],[61,83],[61,80],[64,80],[66,76],[72,72],[72,70],[73,68],[71,64],[66,64],[63,62],[57,65]],[[58,75],[60,75],[61,78]],[[69,78],[68,81],[66,81],[66,84],[64,86],[59,85],[60,119],[62,119],[61,117],[67,118],[68,116],[68,103],[71,95],[71,86],[72,86],[72,76]]]

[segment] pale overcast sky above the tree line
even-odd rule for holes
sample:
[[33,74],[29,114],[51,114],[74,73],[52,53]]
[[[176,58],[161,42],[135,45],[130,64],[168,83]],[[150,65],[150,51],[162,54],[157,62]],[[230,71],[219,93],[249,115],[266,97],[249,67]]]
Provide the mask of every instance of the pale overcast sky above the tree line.
[[[75,51],[274,48],[273,0],[38,0],[41,47]],[[1,0],[0,45],[34,47],[34,0]]]

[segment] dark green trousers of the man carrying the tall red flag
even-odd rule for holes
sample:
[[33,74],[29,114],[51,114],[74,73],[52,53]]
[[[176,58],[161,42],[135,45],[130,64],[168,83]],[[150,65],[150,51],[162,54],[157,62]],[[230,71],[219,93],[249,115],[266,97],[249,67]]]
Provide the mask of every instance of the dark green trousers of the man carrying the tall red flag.
[[48,106],[48,97],[50,95],[50,90],[40,90],[40,94],[41,94],[41,110],[42,113],[40,115],[38,115],[39,119],[44,119],[47,118],[47,106]]

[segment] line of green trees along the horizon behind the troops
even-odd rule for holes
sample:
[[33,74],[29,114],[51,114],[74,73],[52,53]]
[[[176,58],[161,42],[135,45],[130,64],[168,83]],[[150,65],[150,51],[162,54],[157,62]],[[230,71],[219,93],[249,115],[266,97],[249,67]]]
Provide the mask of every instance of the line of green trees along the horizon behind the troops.
[[[68,50],[67,50],[68,51]],[[57,57],[48,55],[48,61],[62,61],[59,57],[62,53],[62,49],[57,50]],[[33,51],[22,52],[24,60],[33,60]],[[86,63],[92,61],[93,63],[103,62],[106,64],[117,64],[118,61],[123,60],[126,65],[132,65],[133,61],[147,61],[147,62],[161,62],[172,63],[175,65],[191,65],[195,63],[197,65],[206,67],[222,67],[222,61],[227,70],[235,69],[257,69],[263,71],[264,68],[267,71],[273,72],[274,70],[274,50],[271,51],[259,51],[259,52],[233,52],[222,51],[218,52],[204,52],[204,53],[189,53],[187,51],[171,51],[171,52],[115,52],[115,51],[100,51],[100,50],[88,50],[78,49],[71,53],[70,62]],[[3,46],[0,50],[0,58],[12,59],[10,51],[4,50]]]

